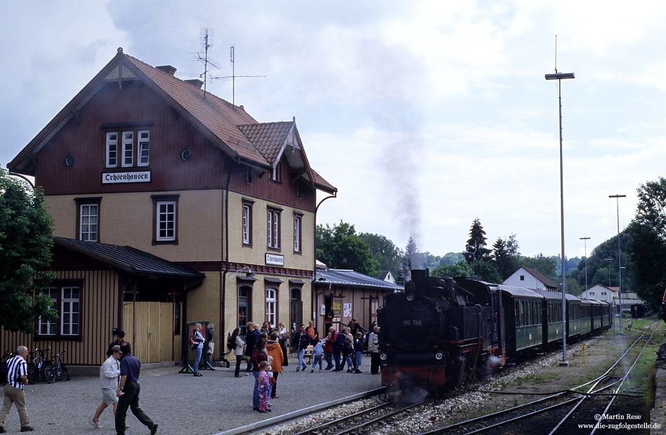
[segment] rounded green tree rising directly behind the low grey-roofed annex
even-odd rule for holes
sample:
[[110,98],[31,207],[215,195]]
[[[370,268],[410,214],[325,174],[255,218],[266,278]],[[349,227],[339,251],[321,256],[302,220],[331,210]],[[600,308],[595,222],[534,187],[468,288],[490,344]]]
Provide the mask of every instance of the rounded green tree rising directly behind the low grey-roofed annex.
[[332,269],[353,269],[369,276],[377,276],[379,263],[372,257],[370,247],[363,241],[353,225],[340,221],[339,225],[317,225],[315,231],[317,259]]

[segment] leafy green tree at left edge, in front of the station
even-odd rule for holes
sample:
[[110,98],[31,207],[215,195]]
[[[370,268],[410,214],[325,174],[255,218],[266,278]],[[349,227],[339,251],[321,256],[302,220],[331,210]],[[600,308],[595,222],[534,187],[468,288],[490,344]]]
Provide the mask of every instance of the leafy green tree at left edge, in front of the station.
[[0,169],[0,326],[34,334],[34,322],[56,312],[41,288],[55,277],[51,262],[51,226],[41,189],[11,178]]

